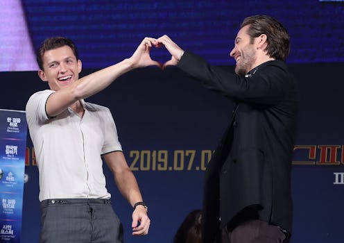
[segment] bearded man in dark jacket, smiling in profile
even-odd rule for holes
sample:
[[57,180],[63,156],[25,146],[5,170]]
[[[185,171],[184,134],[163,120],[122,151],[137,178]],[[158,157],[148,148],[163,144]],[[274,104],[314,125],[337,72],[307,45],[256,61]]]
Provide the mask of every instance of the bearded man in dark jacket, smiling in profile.
[[236,104],[232,121],[205,171],[203,242],[289,242],[291,162],[298,85],[286,66],[290,38],[266,15],[247,17],[230,56],[235,73],[182,50],[167,35],[176,65]]

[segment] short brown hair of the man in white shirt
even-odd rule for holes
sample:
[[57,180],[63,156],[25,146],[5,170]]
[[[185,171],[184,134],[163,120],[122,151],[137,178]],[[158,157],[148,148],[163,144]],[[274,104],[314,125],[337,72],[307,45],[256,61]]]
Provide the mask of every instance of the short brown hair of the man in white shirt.
[[74,55],[76,56],[76,60],[79,59],[78,49],[76,48],[76,45],[74,44],[74,42],[72,42],[66,37],[61,37],[61,36],[50,37],[44,40],[44,42],[42,42],[40,49],[38,49],[36,53],[37,64],[40,67],[40,69],[43,70],[43,55],[46,51],[57,49],[59,47],[64,47],[64,46],[70,47]]

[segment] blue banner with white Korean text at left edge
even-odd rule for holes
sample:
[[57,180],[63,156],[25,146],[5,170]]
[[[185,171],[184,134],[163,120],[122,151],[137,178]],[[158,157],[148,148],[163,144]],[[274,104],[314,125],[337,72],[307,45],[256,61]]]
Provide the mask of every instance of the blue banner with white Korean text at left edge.
[[0,109],[0,242],[20,242],[26,133],[24,111]]

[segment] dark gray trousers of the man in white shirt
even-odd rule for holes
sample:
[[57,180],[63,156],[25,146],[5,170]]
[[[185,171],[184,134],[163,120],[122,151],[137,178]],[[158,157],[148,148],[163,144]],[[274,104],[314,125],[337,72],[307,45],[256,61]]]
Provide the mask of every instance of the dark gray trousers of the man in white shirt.
[[123,226],[110,199],[41,202],[40,243],[122,243]]

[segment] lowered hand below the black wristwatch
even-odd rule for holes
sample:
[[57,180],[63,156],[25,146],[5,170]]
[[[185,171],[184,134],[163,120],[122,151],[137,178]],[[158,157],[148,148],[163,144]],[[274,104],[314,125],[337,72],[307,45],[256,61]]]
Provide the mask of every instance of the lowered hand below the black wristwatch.
[[144,206],[137,206],[132,212],[132,235],[147,235],[150,219],[148,218],[146,208]]

